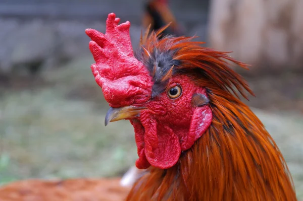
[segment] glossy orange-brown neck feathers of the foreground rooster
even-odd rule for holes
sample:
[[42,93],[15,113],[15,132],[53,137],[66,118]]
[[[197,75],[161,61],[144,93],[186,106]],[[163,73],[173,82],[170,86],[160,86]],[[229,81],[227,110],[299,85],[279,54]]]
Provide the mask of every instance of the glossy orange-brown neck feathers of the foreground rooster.
[[240,101],[211,96],[207,132],[174,167],[149,169],[127,200],[296,200],[284,158],[258,117]]

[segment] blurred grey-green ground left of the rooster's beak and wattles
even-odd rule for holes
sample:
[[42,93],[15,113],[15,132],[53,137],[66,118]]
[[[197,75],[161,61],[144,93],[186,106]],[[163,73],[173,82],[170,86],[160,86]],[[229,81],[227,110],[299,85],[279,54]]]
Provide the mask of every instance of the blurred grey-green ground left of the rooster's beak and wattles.
[[42,78],[14,78],[13,86],[2,88],[0,147],[10,164],[0,176],[113,176],[133,164],[129,123],[104,127],[107,105],[91,76],[91,61],[45,71]]

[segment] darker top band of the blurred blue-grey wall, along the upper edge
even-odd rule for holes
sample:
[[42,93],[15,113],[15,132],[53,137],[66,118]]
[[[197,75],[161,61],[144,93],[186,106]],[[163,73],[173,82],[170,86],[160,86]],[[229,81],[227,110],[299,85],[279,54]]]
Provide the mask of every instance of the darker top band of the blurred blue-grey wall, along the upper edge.
[[[2,0],[0,16],[49,19],[102,19],[110,12],[140,23],[142,0]],[[209,1],[170,0],[177,19],[184,23],[206,22]]]

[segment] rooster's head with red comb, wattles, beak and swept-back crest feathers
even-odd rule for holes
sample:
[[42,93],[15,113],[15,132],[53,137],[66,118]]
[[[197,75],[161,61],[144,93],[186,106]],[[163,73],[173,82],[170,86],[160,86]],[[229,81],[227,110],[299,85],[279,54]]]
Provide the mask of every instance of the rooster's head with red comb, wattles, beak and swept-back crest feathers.
[[160,40],[163,30],[145,37],[134,56],[130,23],[119,21],[111,13],[105,34],[86,30],[95,60],[91,70],[111,106],[105,124],[130,120],[138,168],[170,168],[212,123],[208,85],[227,91],[232,84],[239,85],[237,79],[227,78],[232,70],[223,65],[224,59],[232,59],[200,47],[191,37]]

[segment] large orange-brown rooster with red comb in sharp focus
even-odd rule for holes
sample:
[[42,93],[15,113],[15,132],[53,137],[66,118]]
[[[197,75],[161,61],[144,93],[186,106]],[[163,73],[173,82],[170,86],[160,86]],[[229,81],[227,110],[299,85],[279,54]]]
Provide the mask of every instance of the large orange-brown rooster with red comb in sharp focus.
[[[92,73],[110,105],[105,124],[128,119],[134,127],[135,165],[143,171],[126,200],[296,200],[281,152],[240,101],[240,95],[253,93],[228,63],[246,65],[192,37],[159,39],[166,27],[141,37],[134,54],[130,23],[119,21],[111,13],[105,34],[93,29],[86,34],[95,60]],[[80,185],[81,180],[70,183],[72,188],[63,184],[38,194],[54,201],[107,200],[99,198],[104,191]],[[24,189],[39,185],[5,186],[0,200],[30,200],[4,199],[9,189],[29,195]],[[81,191],[90,199],[72,196]]]

